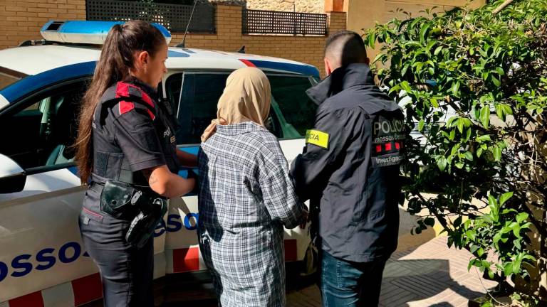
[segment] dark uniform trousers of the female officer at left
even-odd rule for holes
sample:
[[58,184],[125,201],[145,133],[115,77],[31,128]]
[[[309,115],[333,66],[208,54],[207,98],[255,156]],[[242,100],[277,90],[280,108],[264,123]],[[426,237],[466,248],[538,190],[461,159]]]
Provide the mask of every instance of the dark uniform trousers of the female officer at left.
[[80,232],[85,251],[100,270],[104,306],[154,306],[154,240],[142,249],[132,247],[125,242],[130,221],[97,213],[98,205],[93,209],[80,213]]

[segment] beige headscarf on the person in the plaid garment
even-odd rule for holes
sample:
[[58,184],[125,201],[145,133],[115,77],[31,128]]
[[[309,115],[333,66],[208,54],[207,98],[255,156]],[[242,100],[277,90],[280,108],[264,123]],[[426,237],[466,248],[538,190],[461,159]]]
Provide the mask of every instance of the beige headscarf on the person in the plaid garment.
[[217,105],[217,119],[205,129],[202,141],[214,134],[217,124],[256,122],[264,126],[270,103],[270,82],[262,70],[240,68],[232,72]]

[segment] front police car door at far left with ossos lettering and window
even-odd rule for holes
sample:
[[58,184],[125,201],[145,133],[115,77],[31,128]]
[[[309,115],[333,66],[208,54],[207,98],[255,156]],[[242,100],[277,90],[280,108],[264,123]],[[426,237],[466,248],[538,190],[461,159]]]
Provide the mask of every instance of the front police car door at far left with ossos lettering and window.
[[26,173],[23,190],[0,194],[0,302],[97,272],[80,242],[85,190],[71,149],[84,91],[84,80],[63,82],[0,113],[0,154]]

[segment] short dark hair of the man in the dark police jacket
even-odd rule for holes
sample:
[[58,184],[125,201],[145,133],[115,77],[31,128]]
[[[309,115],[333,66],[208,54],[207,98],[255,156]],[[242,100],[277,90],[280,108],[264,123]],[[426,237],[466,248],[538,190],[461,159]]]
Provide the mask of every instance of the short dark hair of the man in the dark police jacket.
[[363,63],[367,50],[363,38],[353,31],[340,31],[329,36],[325,43],[325,57],[340,60],[341,65]]

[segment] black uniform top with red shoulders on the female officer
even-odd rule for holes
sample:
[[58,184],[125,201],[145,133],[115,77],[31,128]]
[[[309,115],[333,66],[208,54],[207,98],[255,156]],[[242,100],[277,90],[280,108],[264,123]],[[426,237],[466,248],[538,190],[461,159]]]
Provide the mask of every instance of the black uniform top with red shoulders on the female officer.
[[96,212],[107,179],[149,187],[142,170],[167,165],[179,171],[174,128],[156,91],[139,80],[105,91],[93,120],[93,173],[84,208]]

